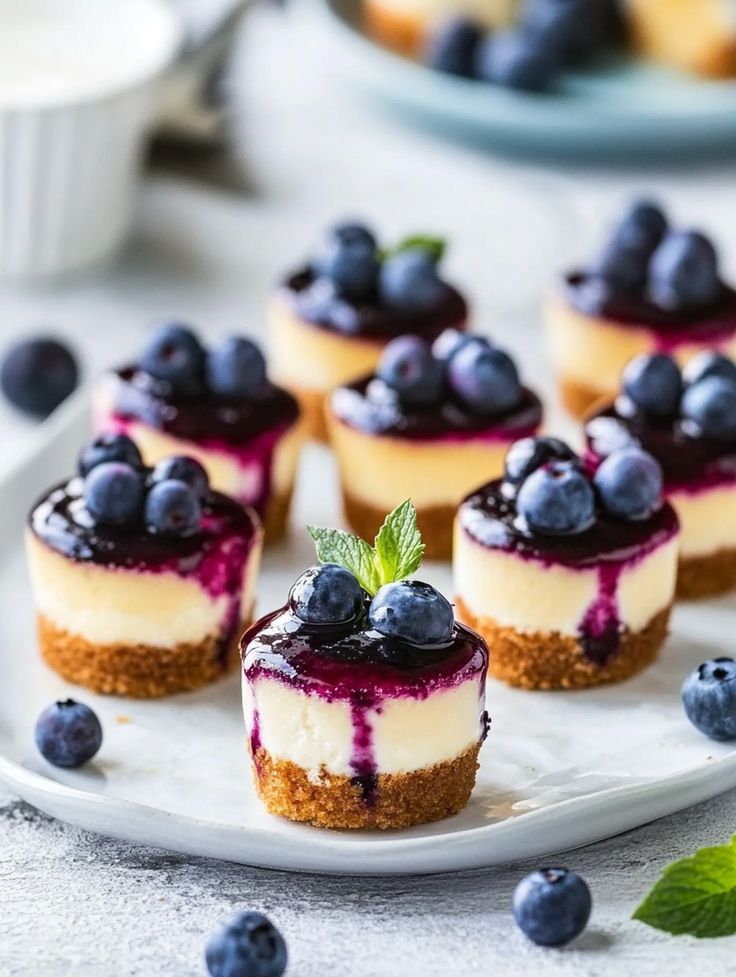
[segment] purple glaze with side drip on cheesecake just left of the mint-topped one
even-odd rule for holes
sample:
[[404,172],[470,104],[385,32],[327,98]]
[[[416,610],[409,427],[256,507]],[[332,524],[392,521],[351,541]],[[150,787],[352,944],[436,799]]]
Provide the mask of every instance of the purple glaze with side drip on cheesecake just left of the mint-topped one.
[[224,598],[220,630],[223,664],[241,624],[243,573],[258,530],[242,506],[210,492],[202,524],[191,536],[168,537],[146,531],[102,526],[84,505],[81,478],[52,489],[33,508],[29,525],[51,549],[77,563],[140,573],[176,573],[195,580],[213,600]]

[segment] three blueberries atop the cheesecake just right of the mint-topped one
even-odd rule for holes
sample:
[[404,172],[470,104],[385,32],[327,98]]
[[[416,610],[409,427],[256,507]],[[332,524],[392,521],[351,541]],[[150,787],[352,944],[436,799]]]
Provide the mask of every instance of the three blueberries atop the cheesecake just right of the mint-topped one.
[[523,438],[509,449],[501,486],[522,528],[548,536],[581,533],[598,506],[613,519],[647,519],[662,504],[662,469],[638,447],[610,454],[591,477],[559,438]]

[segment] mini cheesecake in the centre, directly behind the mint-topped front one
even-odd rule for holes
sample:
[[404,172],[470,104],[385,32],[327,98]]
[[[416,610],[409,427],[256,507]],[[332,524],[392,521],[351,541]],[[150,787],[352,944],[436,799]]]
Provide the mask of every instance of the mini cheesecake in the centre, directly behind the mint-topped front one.
[[393,340],[375,375],[329,401],[350,526],[372,539],[383,513],[408,497],[426,556],[449,558],[462,498],[498,478],[509,445],[536,434],[541,421],[539,398],[514,361],[484,337],[448,330],[433,346],[417,336]]

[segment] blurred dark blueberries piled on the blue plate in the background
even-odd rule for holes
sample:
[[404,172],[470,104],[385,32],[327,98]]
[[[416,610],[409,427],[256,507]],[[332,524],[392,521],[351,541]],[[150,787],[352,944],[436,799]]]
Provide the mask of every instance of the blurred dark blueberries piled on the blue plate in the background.
[[566,68],[598,54],[617,21],[613,0],[524,0],[513,30],[494,34],[468,18],[448,21],[431,38],[426,61],[453,75],[545,91]]

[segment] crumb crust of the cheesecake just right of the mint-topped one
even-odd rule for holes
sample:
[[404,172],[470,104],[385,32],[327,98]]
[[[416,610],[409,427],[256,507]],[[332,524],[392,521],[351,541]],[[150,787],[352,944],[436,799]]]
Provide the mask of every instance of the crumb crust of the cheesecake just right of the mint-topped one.
[[489,675],[520,689],[588,689],[631,678],[657,657],[667,637],[670,610],[655,614],[641,631],[624,632],[616,654],[605,665],[596,665],[570,635],[504,628],[492,618],[476,617],[455,598],[458,618],[488,642]]

